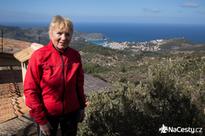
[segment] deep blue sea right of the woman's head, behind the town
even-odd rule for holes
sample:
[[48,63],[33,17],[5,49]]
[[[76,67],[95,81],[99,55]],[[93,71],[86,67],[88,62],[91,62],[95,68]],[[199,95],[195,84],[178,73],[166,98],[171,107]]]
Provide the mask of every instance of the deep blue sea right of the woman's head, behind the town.
[[205,43],[205,25],[76,23],[75,29],[81,32],[102,33],[109,40],[118,42],[185,38],[193,43]]

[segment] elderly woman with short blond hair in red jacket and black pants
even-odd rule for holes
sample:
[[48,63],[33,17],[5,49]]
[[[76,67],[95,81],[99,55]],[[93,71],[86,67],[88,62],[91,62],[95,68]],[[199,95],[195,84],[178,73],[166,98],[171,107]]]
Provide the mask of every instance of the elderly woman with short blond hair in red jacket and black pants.
[[54,16],[50,42],[29,60],[24,81],[26,105],[44,135],[56,135],[60,125],[62,136],[75,136],[77,124],[84,118],[84,74],[80,54],[69,47],[72,34],[72,22]]

